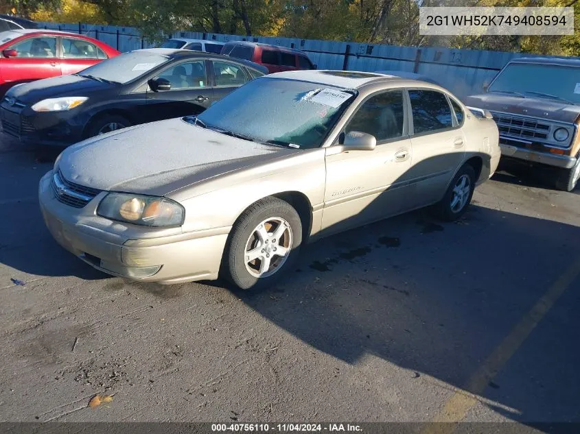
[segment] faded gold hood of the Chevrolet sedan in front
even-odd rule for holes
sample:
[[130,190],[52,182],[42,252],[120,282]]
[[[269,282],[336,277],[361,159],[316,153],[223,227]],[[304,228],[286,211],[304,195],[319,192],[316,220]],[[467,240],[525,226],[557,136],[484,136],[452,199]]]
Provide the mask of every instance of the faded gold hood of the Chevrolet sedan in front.
[[300,152],[169,119],[90,138],[65,149],[69,181],[108,191],[167,195],[190,184]]

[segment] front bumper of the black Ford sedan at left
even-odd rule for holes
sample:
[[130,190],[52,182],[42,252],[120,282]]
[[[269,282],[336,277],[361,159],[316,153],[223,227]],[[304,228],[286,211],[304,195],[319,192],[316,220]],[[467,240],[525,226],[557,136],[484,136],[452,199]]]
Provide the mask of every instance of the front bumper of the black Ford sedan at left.
[[30,107],[10,106],[3,102],[0,119],[5,134],[13,136],[23,145],[67,147],[82,140],[88,119],[69,112],[35,112]]

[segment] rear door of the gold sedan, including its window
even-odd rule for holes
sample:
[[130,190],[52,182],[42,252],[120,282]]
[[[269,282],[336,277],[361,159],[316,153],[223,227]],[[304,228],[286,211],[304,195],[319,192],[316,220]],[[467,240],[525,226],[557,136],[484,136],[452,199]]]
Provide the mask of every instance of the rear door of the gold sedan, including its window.
[[448,98],[431,89],[409,89],[411,136],[410,195],[413,208],[441,200],[465,154],[465,136]]

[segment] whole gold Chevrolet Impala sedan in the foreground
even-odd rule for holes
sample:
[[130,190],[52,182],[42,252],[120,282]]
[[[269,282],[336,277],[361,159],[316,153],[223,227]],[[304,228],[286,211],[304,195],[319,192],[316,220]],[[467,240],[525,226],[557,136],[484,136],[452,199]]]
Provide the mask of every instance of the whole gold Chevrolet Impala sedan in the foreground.
[[374,73],[260,77],[198,117],[91,138],[40,180],[64,248],[108,274],[271,285],[301,245],[435,205],[463,215],[498,128],[434,84]]

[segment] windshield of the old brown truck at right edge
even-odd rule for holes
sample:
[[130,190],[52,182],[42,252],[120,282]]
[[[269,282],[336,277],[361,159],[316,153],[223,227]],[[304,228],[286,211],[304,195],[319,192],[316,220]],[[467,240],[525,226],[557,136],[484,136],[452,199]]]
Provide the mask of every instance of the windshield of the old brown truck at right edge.
[[554,64],[512,63],[498,75],[488,92],[559,99],[580,104],[580,68]]

